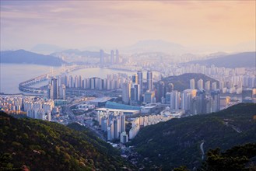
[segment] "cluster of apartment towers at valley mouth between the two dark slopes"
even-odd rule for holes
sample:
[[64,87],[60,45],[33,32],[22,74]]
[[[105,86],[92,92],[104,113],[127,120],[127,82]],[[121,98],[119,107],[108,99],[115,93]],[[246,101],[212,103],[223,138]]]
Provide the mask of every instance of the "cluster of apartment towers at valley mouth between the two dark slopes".
[[121,112],[97,111],[96,120],[101,129],[107,132],[107,140],[112,141],[120,139],[122,143],[128,141],[128,135],[125,132],[125,115]]

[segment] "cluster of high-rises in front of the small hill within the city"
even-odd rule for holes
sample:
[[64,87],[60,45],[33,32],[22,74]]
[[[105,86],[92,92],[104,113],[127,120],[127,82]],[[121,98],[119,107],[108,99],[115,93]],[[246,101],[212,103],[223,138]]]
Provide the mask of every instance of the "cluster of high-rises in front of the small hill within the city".
[[[190,89],[182,92],[174,90],[172,83],[163,81],[155,85],[156,103],[170,105],[171,110],[184,110],[186,113],[212,113],[220,110],[220,91],[217,89],[217,82],[202,79],[190,80]],[[197,88],[197,89],[196,89]]]

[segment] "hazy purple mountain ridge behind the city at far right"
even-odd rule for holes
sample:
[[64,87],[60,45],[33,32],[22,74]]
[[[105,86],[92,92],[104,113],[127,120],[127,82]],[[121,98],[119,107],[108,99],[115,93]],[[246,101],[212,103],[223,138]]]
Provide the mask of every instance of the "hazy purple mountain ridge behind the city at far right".
[[193,64],[199,65],[215,65],[216,67],[225,68],[247,68],[255,67],[256,65],[256,52],[243,52],[239,54],[228,54],[219,58],[210,58],[202,61],[192,61]]

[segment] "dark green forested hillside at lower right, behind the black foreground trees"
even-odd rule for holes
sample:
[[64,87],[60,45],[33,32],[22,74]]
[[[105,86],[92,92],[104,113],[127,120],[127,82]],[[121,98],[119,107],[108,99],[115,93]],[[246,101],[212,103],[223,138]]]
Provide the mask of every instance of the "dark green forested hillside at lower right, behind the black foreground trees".
[[[144,127],[131,145],[141,155],[141,166],[170,170],[202,163],[202,150],[226,150],[256,142],[256,104],[241,103],[218,113],[173,119]],[[255,154],[256,155],[256,154]],[[148,159],[147,159],[148,158]],[[204,155],[205,159],[205,155]]]

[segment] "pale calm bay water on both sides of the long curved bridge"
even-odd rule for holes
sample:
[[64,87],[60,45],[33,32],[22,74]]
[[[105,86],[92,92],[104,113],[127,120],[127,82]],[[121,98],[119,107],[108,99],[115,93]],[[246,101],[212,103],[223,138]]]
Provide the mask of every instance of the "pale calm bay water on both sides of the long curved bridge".
[[[51,69],[54,71],[61,67],[50,67],[44,65],[27,65],[27,64],[0,64],[0,92],[5,94],[16,94],[24,93],[19,91],[19,83],[24,82],[28,79],[33,79],[39,75],[44,75],[50,72]],[[107,78],[107,75],[123,73],[131,76],[135,72],[124,72],[117,71],[108,68],[84,68],[75,72],[69,73],[69,75],[82,75],[83,78],[99,77],[101,79]],[[40,82],[34,87],[40,87],[46,85],[47,82]]]

